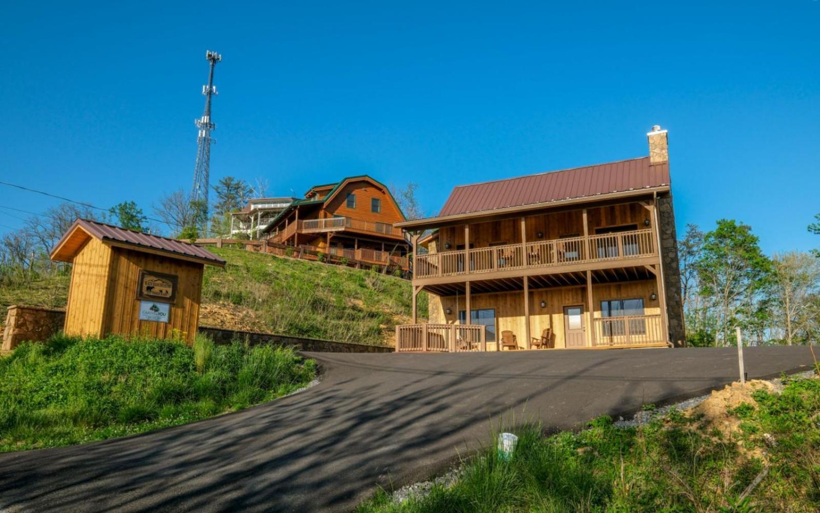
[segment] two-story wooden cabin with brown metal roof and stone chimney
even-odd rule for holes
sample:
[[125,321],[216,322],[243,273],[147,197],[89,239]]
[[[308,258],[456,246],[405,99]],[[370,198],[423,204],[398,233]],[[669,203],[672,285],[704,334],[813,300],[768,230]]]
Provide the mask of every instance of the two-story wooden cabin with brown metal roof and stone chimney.
[[396,349],[680,344],[667,131],[648,137],[648,157],[458,186],[437,217],[399,222],[414,324],[397,327]]

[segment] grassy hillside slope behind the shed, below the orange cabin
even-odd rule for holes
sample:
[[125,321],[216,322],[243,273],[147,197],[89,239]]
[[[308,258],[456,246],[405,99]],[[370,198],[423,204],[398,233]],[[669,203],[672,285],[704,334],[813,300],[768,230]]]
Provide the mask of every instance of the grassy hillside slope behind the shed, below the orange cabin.
[[[245,250],[209,250],[228,264],[205,268],[203,326],[392,345],[396,324],[410,322],[407,280]],[[64,307],[68,282],[58,275],[0,286],[0,322],[8,305]],[[421,318],[426,309],[426,297],[419,295]]]

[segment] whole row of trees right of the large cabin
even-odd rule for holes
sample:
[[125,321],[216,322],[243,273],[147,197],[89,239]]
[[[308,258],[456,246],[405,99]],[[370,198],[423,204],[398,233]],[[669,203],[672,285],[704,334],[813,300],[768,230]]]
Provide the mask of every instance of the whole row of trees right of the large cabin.
[[[820,214],[809,231],[820,234]],[[736,345],[736,327],[761,346],[820,339],[818,250],[767,256],[749,225],[721,219],[707,232],[686,225],[678,256],[691,346]]]

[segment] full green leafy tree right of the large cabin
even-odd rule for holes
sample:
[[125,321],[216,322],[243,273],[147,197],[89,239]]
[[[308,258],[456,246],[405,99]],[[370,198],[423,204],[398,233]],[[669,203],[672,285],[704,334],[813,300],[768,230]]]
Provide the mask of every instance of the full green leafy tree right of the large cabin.
[[723,345],[728,345],[732,327],[750,327],[758,318],[758,300],[769,284],[771,261],[749,225],[721,219],[704,236],[696,268],[699,292],[713,300],[717,332]]

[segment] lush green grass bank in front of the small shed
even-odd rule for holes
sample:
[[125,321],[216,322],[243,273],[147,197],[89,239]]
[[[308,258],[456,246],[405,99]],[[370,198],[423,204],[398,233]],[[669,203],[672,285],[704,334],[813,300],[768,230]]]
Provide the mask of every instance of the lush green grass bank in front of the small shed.
[[0,358],[0,451],[71,445],[185,424],[271,401],[316,376],[293,350],[198,337],[56,336]]

